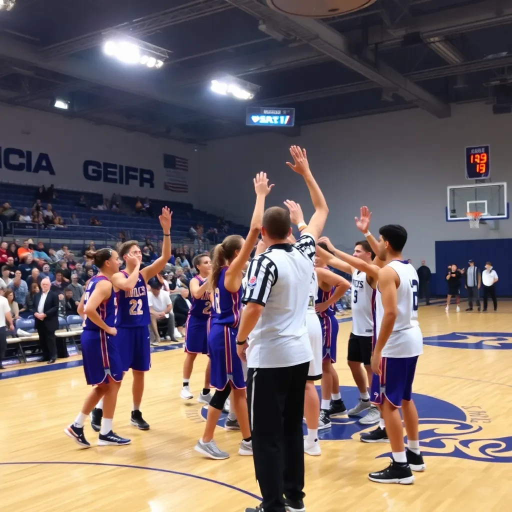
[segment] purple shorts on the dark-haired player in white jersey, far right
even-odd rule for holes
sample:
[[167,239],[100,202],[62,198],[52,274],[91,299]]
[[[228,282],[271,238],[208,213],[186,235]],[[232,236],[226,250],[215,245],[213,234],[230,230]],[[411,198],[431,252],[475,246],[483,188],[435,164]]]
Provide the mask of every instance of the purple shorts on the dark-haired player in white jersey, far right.
[[417,362],[418,356],[382,357],[381,374],[373,374],[371,402],[380,405],[386,397],[393,406],[402,407],[402,400],[411,400]]

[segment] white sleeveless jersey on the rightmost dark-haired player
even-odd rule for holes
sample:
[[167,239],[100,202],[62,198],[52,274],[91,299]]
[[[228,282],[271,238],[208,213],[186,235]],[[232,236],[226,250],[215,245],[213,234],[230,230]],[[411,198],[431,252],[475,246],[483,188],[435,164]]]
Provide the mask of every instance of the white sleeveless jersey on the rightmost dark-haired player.
[[[423,336],[418,324],[418,274],[407,261],[388,263],[400,279],[396,289],[397,315],[393,332],[382,349],[383,357],[413,357],[423,353]],[[384,309],[382,294],[377,286],[377,333],[380,331]]]

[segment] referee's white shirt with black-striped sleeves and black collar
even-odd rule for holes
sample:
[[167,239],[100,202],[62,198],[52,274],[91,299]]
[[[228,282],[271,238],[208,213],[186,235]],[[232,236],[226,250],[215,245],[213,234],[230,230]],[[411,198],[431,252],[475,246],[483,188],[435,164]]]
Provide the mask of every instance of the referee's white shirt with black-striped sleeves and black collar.
[[247,270],[242,302],[264,306],[250,334],[249,368],[295,366],[313,358],[306,328],[315,240],[304,233],[294,245],[276,244]]

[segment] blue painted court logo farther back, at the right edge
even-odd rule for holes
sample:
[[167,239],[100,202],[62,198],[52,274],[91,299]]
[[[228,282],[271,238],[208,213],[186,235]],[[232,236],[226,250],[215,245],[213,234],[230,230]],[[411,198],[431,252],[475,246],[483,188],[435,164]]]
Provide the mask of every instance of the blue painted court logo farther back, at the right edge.
[[423,344],[451,349],[512,350],[512,332],[451,332],[424,337]]

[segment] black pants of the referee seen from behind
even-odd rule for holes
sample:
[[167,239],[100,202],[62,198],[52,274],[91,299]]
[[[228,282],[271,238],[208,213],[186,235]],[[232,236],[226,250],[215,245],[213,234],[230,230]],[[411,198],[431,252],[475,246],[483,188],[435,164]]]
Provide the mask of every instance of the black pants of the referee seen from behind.
[[265,512],[285,512],[284,498],[304,498],[304,392],[309,362],[249,368],[247,405],[256,479]]

